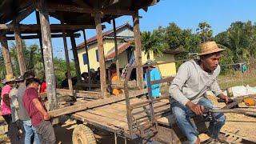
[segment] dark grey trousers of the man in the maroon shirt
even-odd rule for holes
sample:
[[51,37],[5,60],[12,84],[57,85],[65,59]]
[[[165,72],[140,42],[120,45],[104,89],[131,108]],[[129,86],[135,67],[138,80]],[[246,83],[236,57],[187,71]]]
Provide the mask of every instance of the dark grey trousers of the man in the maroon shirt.
[[43,121],[38,126],[34,127],[42,144],[55,144],[54,127],[51,125],[50,121]]

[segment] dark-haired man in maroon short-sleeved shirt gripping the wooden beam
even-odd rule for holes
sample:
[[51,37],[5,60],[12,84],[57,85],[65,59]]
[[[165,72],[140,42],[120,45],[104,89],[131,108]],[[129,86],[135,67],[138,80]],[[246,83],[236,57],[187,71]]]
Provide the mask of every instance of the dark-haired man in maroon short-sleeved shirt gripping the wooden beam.
[[41,100],[38,98],[39,80],[30,78],[26,80],[26,90],[23,96],[23,105],[30,115],[32,126],[35,127],[42,144],[56,142],[54,128],[50,123],[50,114],[47,113]]

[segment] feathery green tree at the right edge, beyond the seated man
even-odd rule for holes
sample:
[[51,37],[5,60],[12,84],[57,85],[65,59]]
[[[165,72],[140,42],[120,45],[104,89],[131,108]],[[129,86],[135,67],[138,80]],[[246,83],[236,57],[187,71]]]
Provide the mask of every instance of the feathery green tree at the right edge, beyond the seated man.
[[230,28],[215,36],[216,42],[230,50],[232,62],[255,58],[256,30],[252,22],[233,22]]

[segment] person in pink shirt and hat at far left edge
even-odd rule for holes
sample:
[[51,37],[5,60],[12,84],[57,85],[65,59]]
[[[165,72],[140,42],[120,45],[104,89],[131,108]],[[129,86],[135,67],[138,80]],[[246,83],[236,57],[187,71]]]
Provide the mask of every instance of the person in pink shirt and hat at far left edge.
[[[1,112],[2,117],[5,119],[6,123],[8,124],[8,133],[10,132],[10,125],[11,125],[11,112],[10,112],[10,90],[12,86],[14,86],[15,78],[13,75],[6,75],[6,86],[2,87],[2,94],[1,94]],[[10,134],[8,134],[10,137]]]

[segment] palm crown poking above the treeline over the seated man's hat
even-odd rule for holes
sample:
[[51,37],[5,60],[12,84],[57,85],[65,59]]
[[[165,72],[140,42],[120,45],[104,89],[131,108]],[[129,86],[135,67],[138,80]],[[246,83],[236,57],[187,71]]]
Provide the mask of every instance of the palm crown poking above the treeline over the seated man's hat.
[[211,26],[207,22],[200,22],[196,31],[200,35],[202,42],[211,41],[213,39],[213,30],[211,30]]

